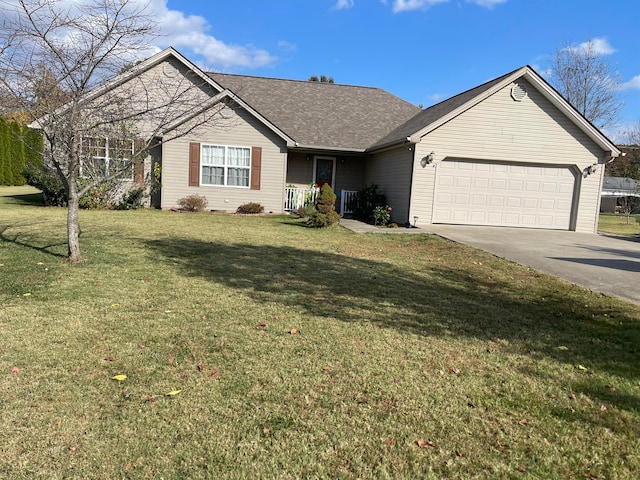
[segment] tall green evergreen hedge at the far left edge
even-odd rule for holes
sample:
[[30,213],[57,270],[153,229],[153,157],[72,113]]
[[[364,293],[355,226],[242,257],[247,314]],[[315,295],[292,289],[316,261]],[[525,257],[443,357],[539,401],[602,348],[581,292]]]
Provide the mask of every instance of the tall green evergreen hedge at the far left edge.
[[0,117],[0,185],[24,185],[26,170],[42,165],[42,139],[36,130]]

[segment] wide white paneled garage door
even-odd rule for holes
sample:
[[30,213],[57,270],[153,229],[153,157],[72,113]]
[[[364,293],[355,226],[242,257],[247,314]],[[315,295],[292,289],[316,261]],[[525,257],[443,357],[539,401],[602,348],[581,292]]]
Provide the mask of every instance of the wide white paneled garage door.
[[568,167],[445,160],[433,223],[568,230],[575,183]]

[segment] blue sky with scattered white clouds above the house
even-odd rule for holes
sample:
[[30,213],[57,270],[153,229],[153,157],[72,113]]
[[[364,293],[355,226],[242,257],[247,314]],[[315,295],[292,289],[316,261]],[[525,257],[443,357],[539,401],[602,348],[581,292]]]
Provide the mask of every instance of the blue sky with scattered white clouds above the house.
[[620,75],[620,132],[640,122],[636,0],[152,0],[163,36],[220,72],[369,85],[425,107],[588,39]]

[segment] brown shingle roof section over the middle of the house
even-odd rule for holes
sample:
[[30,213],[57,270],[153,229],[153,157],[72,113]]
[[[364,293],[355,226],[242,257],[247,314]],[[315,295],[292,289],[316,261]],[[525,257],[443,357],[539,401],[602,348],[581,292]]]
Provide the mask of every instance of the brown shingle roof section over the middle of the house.
[[364,151],[421,110],[385,90],[209,73],[301,146]]

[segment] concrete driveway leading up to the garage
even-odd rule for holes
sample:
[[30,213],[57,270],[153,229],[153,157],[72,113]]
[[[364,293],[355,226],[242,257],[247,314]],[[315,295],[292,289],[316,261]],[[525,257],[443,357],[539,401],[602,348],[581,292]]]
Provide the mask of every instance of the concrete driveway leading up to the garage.
[[623,237],[502,227],[420,229],[486,250],[591,290],[640,303],[640,242]]

